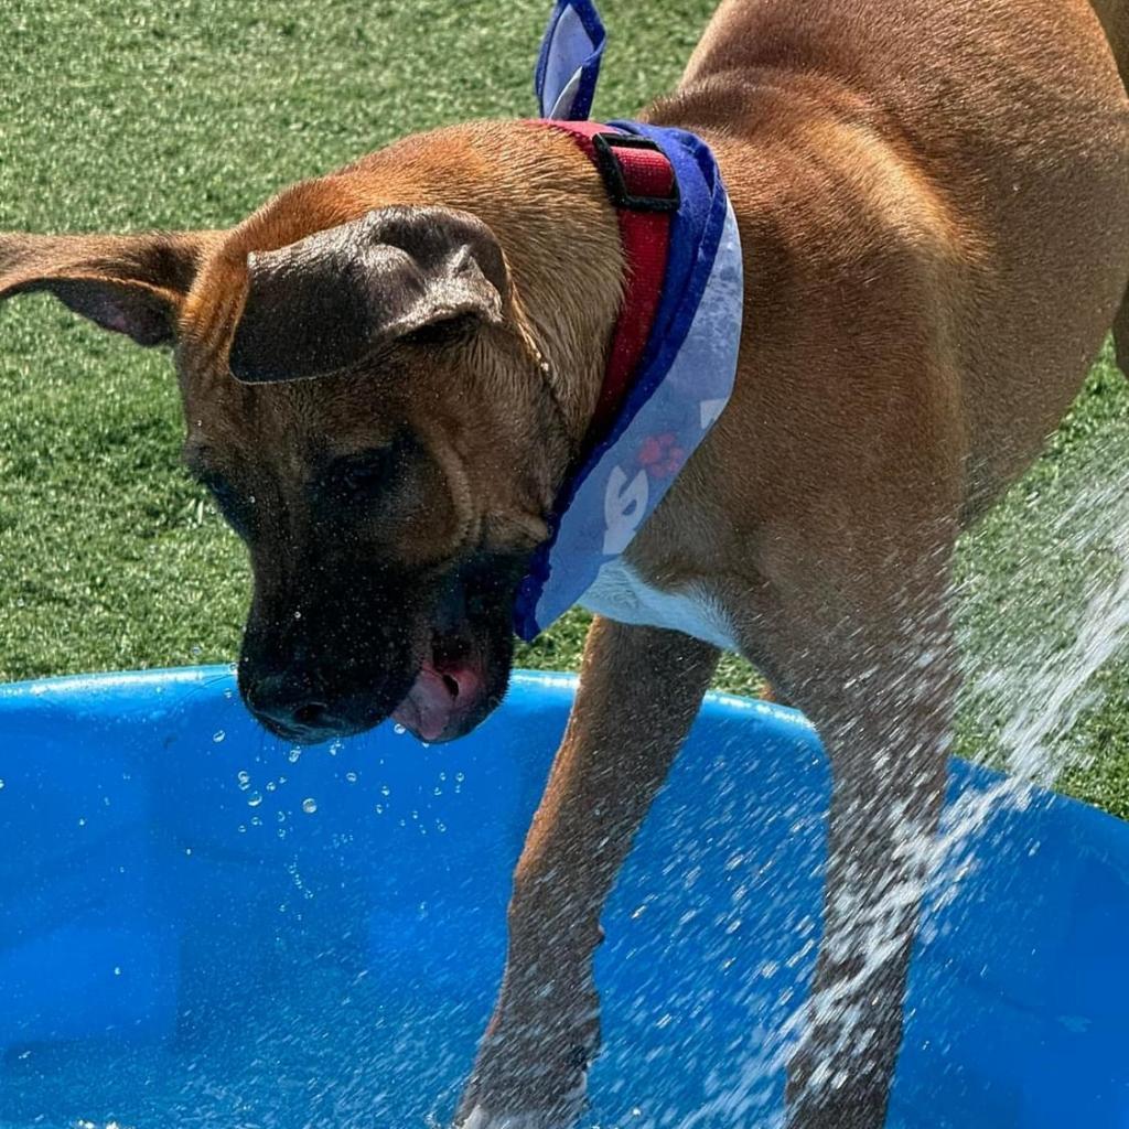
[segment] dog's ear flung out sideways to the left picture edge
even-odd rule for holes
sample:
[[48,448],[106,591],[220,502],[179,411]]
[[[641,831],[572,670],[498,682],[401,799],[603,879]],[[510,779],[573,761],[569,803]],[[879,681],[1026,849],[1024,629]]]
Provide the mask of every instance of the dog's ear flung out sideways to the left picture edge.
[[53,294],[104,330],[141,345],[176,335],[177,315],[215,231],[0,235],[0,299]]

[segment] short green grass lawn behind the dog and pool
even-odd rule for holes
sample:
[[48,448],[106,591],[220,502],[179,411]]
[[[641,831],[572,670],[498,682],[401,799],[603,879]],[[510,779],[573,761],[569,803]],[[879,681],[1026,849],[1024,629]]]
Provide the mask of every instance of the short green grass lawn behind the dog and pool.
[[[712,6],[603,0],[611,43],[595,115],[668,89]],[[405,132],[532,114],[548,9],[14,0],[0,21],[0,229],[228,225]],[[178,469],[180,438],[166,355],[42,297],[0,314],[0,680],[234,657],[247,568]],[[1129,596],[1100,601],[1129,569],[1127,482],[1129,385],[1106,355],[960,562],[961,751],[1008,763],[1038,746],[1042,763],[1069,765],[1064,787],[1122,817]],[[584,625],[568,616],[520,662],[575,666]],[[1085,677],[1079,658],[1095,655]],[[756,679],[727,659],[718,684]]]

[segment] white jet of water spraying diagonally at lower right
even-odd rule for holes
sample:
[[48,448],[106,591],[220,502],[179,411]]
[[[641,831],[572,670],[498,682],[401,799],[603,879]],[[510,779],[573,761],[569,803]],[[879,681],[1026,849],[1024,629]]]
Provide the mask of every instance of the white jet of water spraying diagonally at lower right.
[[[1120,374],[1106,371],[1105,378],[1113,380],[1110,399],[1123,403]],[[1100,373],[1092,384],[1102,379]],[[922,882],[931,878],[919,934],[925,942],[936,939],[946,909],[975,881],[989,852],[1041,847],[1034,839],[994,842],[981,833],[984,826],[1009,809],[1023,812],[1036,789],[1059,786],[1066,773],[1084,772],[1102,755],[1100,745],[1079,739],[1079,721],[1103,706],[1103,674],[1129,653],[1129,444],[1123,413],[1112,427],[1104,422],[1079,445],[1073,465],[1057,464],[1052,449],[1016,488],[1027,518],[1021,527],[1010,507],[990,516],[964,548],[954,593],[963,677],[957,751],[1005,774],[952,803],[936,837],[907,831],[904,852],[920,864]],[[782,1021],[760,1027],[739,1064],[712,1077],[709,1099],[680,1129],[782,1124],[772,1079],[787,1068],[813,1017],[833,1018],[844,1043],[866,1038],[866,1015],[846,1001],[881,969],[920,893],[920,883],[890,886],[878,911],[860,921],[857,972],[834,994],[796,1006],[785,989],[773,1001]],[[813,940],[797,945],[809,948]],[[763,998],[755,1006],[763,1015]],[[842,1080],[817,1071],[812,1084]],[[891,1123],[902,1123],[896,1103]]]

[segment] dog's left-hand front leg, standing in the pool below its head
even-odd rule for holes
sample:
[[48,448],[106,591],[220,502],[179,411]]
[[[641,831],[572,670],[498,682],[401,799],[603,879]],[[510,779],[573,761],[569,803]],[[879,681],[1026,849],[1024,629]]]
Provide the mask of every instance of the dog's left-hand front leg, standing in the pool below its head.
[[717,650],[597,619],[580,689],[514,876],[501,995],[456,1117],[567,1129],[599,1041],[599,914],[698,712]]

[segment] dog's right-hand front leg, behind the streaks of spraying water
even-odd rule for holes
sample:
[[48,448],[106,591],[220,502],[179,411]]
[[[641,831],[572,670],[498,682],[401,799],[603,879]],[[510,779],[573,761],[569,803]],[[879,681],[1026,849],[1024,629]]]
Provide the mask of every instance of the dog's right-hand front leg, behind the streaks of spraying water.
[[742,631],[814,721],[833,781],[823,938],[789,1052],[790,1129],[885,1124],[955,693],[955,522],[942,525],[935,540],[887,530],[809,552],[794,542]]

